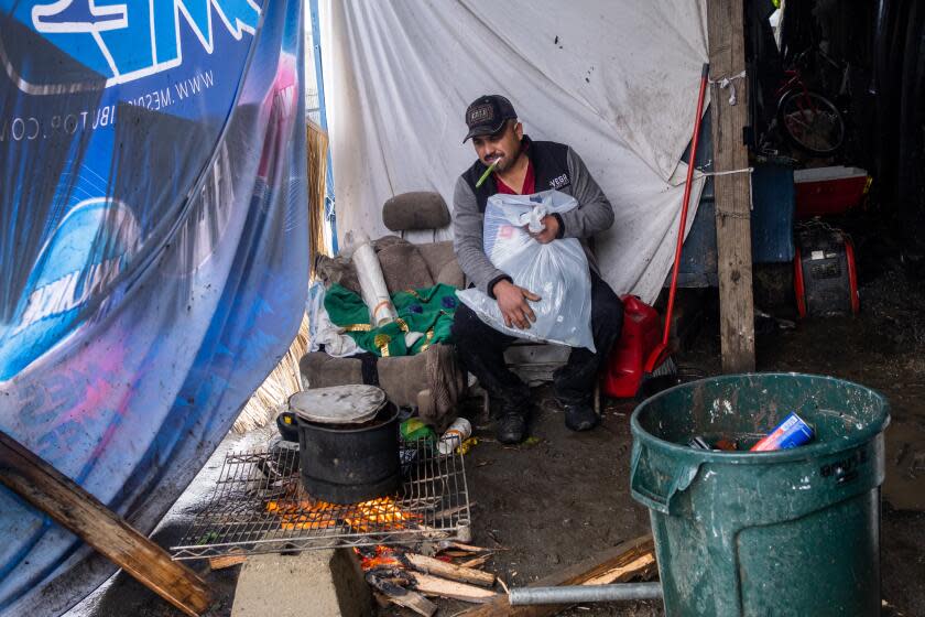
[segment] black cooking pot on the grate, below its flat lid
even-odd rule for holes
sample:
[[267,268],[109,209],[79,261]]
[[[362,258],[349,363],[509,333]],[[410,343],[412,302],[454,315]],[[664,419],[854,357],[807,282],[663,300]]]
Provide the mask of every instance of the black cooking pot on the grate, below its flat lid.
[[385,403],[363,424],[320,424],[285,413],[298,431],[302,485],[308,495],[331,504],[356,504],[399,490],[402,473],[394,404]]

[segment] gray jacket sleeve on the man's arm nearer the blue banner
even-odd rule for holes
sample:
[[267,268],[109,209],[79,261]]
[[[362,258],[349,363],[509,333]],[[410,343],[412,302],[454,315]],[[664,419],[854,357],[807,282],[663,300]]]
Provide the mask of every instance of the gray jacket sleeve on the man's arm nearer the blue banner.
[[494,267],[485,253],[482,220],[476,194],[461,177],[453,192],[453,248],[466,277],[489,297],[490,288],[501,279],[511,278]]

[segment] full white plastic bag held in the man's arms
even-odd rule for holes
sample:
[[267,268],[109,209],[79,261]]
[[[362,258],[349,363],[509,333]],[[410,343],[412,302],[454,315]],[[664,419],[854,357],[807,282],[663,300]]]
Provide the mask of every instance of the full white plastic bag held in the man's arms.
[[527,329],[508,327],[498,302],[479,290],[457,291],[456,295],[476,314],[500,332],[547,340],[596,351],[591,333],[591,275],[588,258],[577,238],[563,238],[541,245],[524,229],[534,232],[548,214],[566,213],[578,202],[558,191],[533,195],[492,195],[485,210],[485,252],[491,262],[513,279],[514,284],[541,297],[530,302],[536,322]]

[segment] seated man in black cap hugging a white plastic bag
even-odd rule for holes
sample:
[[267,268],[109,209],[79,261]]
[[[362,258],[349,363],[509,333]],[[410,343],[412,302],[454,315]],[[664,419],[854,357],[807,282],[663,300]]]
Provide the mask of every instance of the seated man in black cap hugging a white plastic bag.
[[[523,126],[507,98],[499,95],[478,98],[466,110],[466,125],[469,132],[464,142],[472,140],[478,160],[456,182],[454,248],[463,271],[479,290],[498,302],[509,327],[529,328],[535,321],[530,302],[538,301],[540,296],[515,285],[486,255],[482,220],[488,198],[498,193],[529,195],[554,188],[578,201],[578,207],[570,212],[546,216],[545,229],[531,236],[541,243],[579,238],[588,256],[591,331],[597,353],[573,348],[568,364],[555,372],[553,385],[565,409],[566,426],[573,431],[594,429],[598,423],[592,405],[595,383],[620,337],[623,305],[600,278],[587,241],[613,224],[613,208],[572,148],[552,141],[532,141],[523,134]],[[492,163],[493,173],[477,186]],[[485,324],[465,304],[456,311],[453,338],[468,370],[501,403],[498,441],[523,441],[531,409],[530,389],[504,364],[504,349],[515,338]]]

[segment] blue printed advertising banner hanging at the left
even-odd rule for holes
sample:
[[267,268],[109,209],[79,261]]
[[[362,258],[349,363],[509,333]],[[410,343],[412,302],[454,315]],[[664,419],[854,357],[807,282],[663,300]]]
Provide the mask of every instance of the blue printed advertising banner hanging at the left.
[[[302,3],[0,0],[0,430],[151,531],[307,290]],[[0,614],[113,566],[0,489]]]

